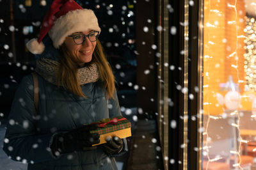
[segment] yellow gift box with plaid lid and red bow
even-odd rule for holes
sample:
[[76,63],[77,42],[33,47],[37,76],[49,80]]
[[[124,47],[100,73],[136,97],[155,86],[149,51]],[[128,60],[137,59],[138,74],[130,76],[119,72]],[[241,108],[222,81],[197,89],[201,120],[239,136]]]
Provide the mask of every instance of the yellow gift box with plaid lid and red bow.
[[93,144],[93,146],[106,143],[106,138],[112,137],[113,135],[120,137],[121,139],[131,136],[131,122],[123,116],[108,118],[91,124],[97,124],[99,127],[90,132],[100,134],[100,143]]

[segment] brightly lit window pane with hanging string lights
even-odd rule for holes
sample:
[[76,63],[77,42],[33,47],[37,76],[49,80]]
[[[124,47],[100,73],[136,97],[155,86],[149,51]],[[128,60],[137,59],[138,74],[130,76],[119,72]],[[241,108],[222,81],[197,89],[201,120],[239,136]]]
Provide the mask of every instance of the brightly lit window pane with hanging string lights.
[[204,1],[202,169],[256,157],[256,1]]

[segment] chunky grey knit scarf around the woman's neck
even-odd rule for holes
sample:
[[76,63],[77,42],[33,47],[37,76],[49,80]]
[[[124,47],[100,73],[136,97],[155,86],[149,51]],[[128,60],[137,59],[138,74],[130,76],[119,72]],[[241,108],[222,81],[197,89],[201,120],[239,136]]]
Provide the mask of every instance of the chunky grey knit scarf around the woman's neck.
[[[58,85],[56,75],[59,65],[60,63],[52,59],[40,58],[36,61],[35,71],[44,77],[46,81]],[[80,85],[96,82],[99,79],[99,70],[97,65],[92,63],[90,66],[78,68],[77,78]],[[62,84],[60,83],[60,85]]]

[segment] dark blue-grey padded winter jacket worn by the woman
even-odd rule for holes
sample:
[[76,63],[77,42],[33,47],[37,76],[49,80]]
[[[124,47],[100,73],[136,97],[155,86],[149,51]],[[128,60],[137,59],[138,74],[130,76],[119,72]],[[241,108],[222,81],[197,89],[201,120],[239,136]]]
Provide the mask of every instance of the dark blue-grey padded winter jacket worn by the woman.
[[113,156],[106,155],[101,146],[92,151],[76,151],[56,158],[49,149],[52,135],[67,132],[84,124],[113,118],[121,114],[116,91],[114,99],[106,99],[102,82],[81,86],[86,98],[77,97],[58,88],[38,75],[39,102],[36,114],[33,103],[33,78],[22,79],[13,99],[3,150],[13,160],[28,162],[28,169],[117,169]]

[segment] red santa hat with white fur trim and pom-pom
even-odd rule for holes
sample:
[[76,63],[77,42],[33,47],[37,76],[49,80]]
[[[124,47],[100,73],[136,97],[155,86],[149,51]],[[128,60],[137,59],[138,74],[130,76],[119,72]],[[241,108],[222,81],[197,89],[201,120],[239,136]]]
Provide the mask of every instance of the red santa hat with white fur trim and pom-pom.
[[100,31],[92,10],[83,9],[74,0],[54,0],[44,17],[39,37],[30,40],[26,47],[33,54],[42,54],[45,48],[42,40],[47,33],[53,46],[59,49],[68,35],[90,29]]

